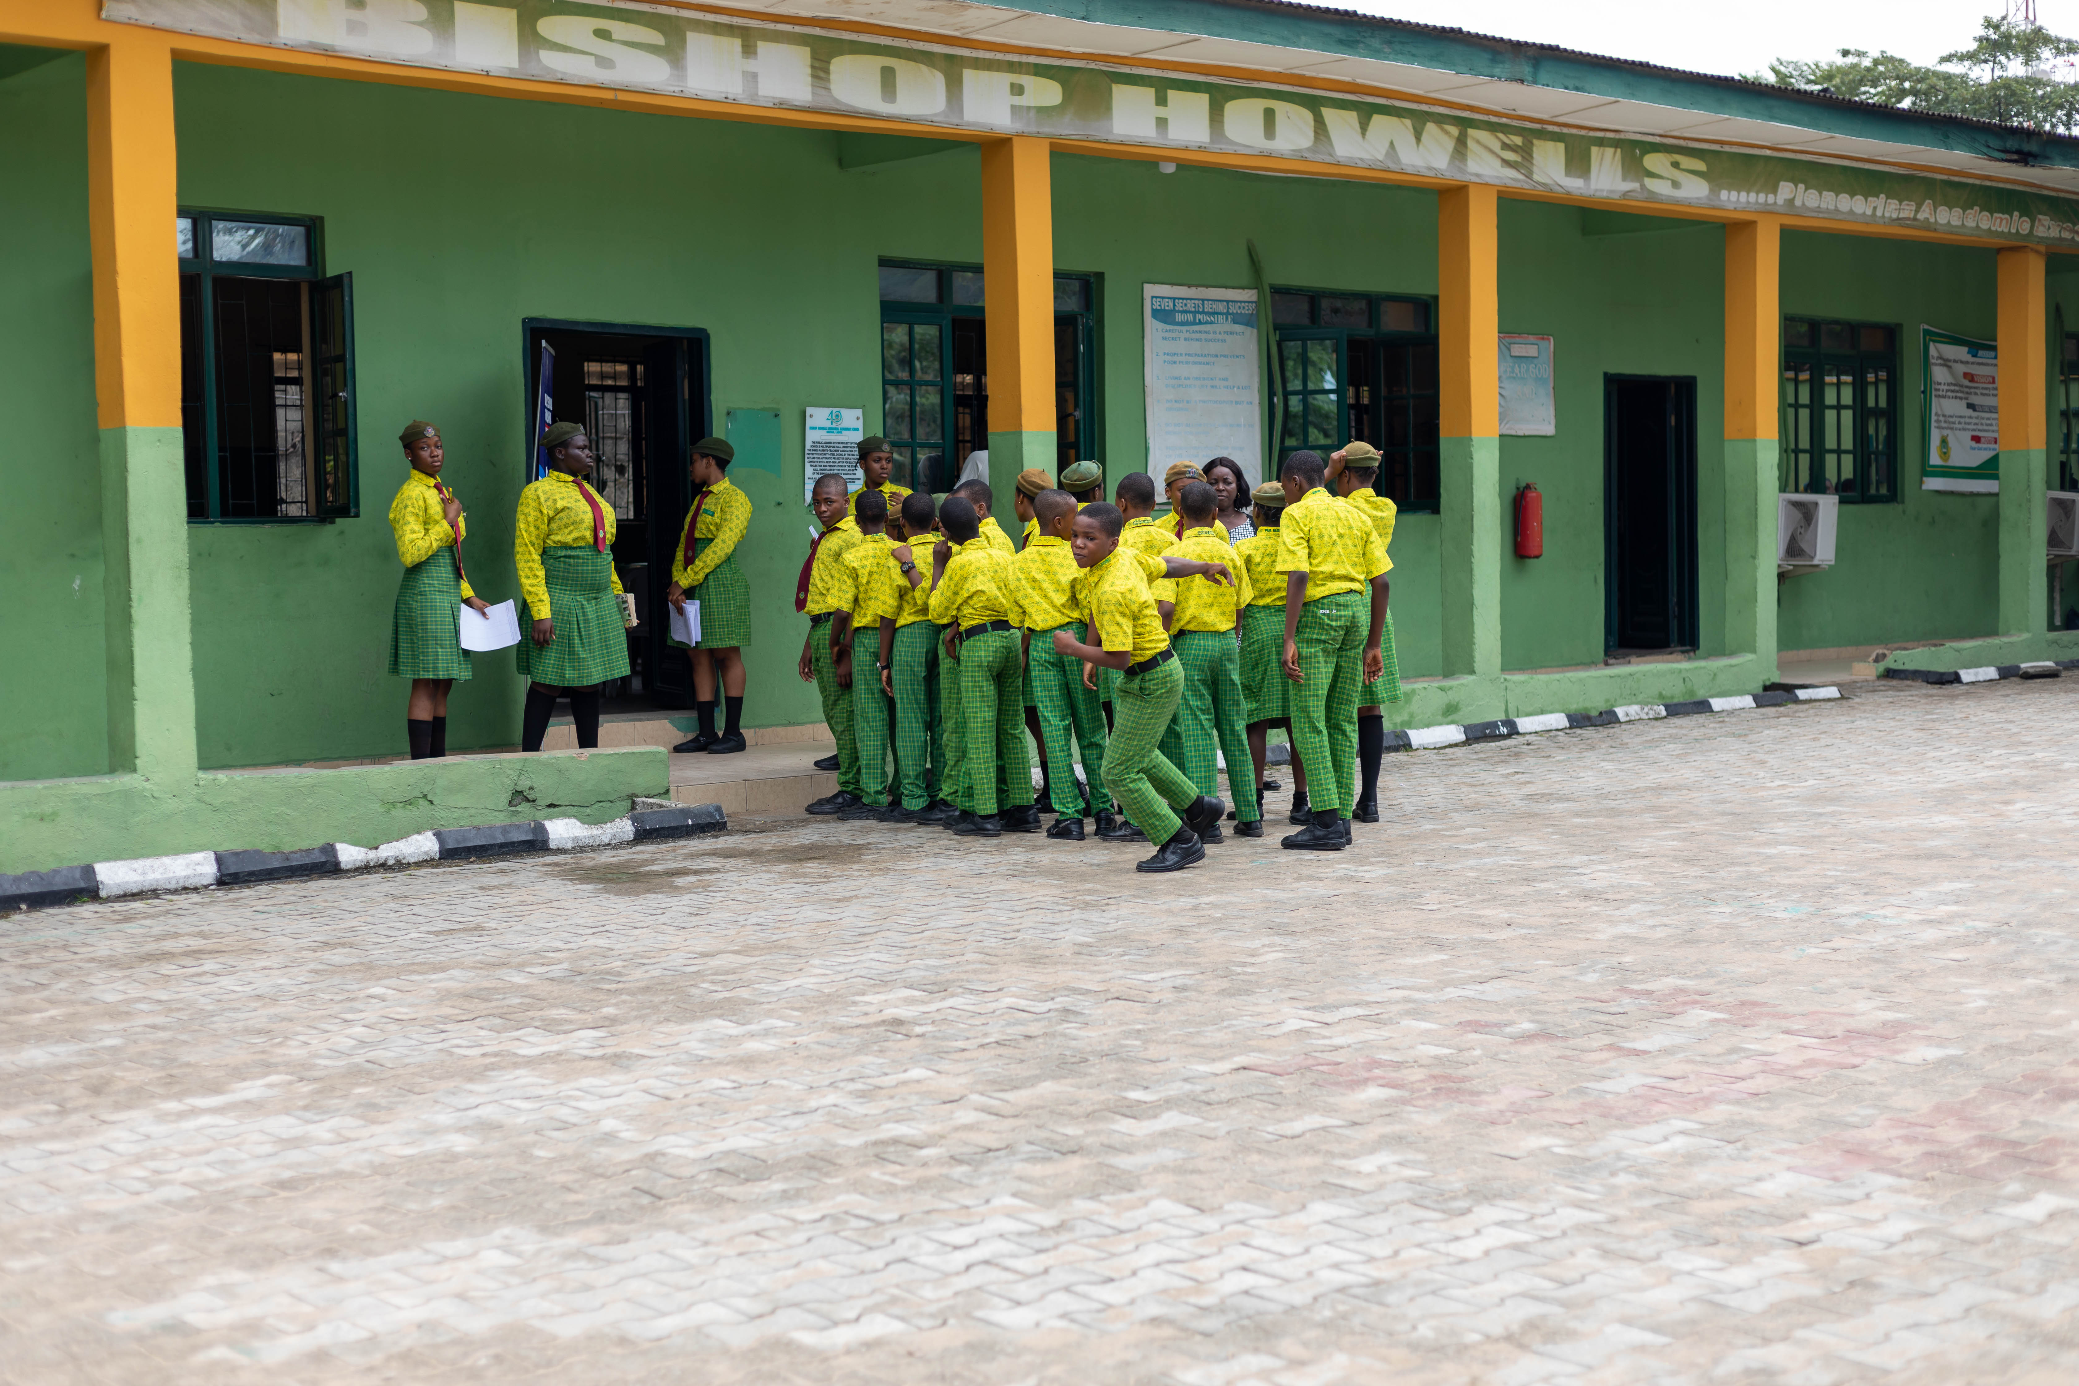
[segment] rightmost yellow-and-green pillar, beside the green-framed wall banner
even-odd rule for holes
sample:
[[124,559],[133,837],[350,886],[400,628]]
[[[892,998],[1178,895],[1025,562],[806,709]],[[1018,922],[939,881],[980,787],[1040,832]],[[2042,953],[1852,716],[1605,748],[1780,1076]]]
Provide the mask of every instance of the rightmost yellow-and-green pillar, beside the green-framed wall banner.
[[2000,632],[2048,628],[2044,488],[2050,449],[2044,251],[2000,251]]

